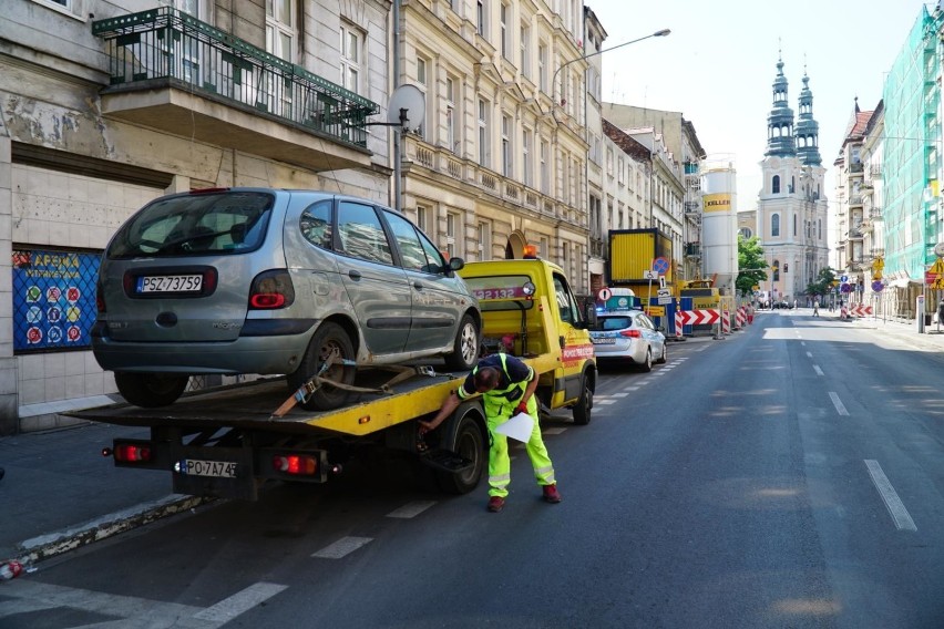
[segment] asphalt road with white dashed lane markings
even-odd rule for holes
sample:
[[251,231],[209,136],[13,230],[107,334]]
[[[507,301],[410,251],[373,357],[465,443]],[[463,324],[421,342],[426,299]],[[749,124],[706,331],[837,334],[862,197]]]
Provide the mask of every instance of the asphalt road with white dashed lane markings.
[[588,426],[546,422],[558,505],[523,450],[501,514],[484,483],[449,497],[365,462],[0,584],[0,626],[942,627],[942,364],[761,313],[649,374],[604,371]]

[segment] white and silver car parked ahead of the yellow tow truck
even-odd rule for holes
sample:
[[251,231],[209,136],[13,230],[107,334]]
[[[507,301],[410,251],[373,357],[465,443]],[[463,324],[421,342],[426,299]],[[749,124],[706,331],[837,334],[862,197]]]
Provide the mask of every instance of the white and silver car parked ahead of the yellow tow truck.
[[598,312],[591,340],[597,362],[634,364],[651,371],[668,359],[666,337],[642,310]]

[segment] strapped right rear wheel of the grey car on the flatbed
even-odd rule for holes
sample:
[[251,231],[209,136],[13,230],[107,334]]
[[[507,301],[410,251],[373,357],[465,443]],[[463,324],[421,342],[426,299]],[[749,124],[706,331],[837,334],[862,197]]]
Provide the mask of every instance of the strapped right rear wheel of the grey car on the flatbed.
[[[337,382],[339,384],[353,384],[355,373],[357,369],[353,367],[353,361],[357,358],[353,351],[348,333],[337,323],[322,323],[321,327],[311,337],[311,342],[308,343],[308,350],[305,352],[305,358],[301,359],[301,364],[295,370],[295,373],[289,374],[288,385],[291,391],[297,391],[302,384],[311,380],[321,370],[331,354],[338,353],[338,358],[349,362],[349,364],[332,364],[321,378]],[[343,406],[348,401],[349,392],[331,386],[330,384],[321,384],[311,393],[305,402],[299,402],[302,409],[308,411],[330,411],[338,406]]]

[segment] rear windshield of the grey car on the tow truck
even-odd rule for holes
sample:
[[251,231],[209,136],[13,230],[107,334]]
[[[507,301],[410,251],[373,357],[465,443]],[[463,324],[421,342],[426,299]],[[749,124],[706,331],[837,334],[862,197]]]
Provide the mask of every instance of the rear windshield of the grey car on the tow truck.
[[109,246],[111,259],[244,254],[258,249],[275,196],[220,192],[160,198],[132,216]]

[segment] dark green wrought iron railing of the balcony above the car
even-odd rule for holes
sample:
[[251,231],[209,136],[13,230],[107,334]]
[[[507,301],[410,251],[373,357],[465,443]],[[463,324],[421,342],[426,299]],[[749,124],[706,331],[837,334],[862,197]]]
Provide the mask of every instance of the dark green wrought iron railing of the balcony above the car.
[[176,9],[92,23],[107,42],[109,91],[176,86],[332,140],[367,147],[379,106]]

